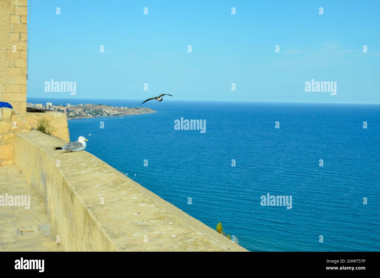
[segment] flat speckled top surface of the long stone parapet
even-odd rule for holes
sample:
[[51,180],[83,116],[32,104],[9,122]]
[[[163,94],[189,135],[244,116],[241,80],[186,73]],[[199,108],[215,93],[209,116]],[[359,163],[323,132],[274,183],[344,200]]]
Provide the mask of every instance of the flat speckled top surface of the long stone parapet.
[[53,150],[62,141],[39,131],[17,136],[60,160],[68,186],[119,251],[247,251],[92,154]]

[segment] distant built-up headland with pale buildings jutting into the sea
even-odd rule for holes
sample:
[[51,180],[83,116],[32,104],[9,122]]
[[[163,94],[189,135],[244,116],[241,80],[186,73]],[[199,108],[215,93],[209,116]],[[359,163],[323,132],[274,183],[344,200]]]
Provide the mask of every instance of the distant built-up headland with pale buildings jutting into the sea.
[[48,112],[58,111],[63,112],[67,116],[67,120],[81,118],[96,118],[96,117],[120,117],[125,115],[137,115],[154,113],[149,107],[118,107],[105,104],[78,104],[78,105],[52,105],[46,103],[46,106],[39,103],[27,103],[28,112]]

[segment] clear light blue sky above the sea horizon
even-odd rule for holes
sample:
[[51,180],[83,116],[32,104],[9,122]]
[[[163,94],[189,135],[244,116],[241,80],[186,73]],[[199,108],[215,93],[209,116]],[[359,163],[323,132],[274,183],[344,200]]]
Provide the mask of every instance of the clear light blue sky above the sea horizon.
[[[28,97],[380,103],[380,1],[29,0],[28,8]],[[76,81],[76,95],[45,92],[51,79]],[[336,81],[336,95],[305,92],[311,79]]]

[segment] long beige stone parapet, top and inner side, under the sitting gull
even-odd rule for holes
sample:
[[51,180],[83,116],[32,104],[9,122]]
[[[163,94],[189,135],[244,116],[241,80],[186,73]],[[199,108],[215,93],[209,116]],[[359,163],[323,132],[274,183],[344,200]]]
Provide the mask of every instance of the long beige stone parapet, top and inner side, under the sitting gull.
[[15,144],[65,251],[247,251],[86,151],[62,154],[38,131]]

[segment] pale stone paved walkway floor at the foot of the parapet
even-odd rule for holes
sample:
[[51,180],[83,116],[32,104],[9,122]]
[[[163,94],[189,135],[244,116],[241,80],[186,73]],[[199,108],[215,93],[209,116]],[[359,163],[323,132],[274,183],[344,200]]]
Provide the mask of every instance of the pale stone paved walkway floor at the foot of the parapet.
[[[0,165],[12,164],[2,161]],[[29,209],[24,206],[0,207],[0,251],[62,251],[51,233],[45,202],[16,166],[0,167],[0,192],[8,196],[30,196]],[[22,231],[36,233],[22,234]]]

